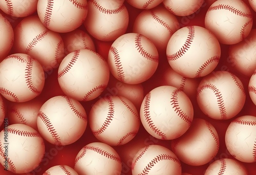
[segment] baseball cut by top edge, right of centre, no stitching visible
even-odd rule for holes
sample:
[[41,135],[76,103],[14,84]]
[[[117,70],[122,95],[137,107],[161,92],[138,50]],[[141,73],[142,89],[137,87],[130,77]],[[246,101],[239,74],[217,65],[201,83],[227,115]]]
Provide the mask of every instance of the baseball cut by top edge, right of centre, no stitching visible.
[[203,5],[202,0],[164,0],[164,7],[177,16],[188,16],[195,13]]

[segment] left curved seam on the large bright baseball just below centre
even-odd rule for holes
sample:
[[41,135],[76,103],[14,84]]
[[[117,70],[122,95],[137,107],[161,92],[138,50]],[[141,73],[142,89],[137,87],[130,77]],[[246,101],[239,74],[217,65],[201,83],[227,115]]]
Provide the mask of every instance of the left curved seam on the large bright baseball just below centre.
[[145,96],[145,102],[144,102],[144,107],[143,107],[143,112],[144,112],[144,117],[146,119],[146,122],[148,124],[148,126],[150,126],[150,128],[158,135],[161,137],[161,139],[163,140],[167,140],[166,135],[161,132],[160,129],[157,128],[157,126],[155,126],[154,122],[151,119],[151,115],[150,115],[150,100],[151,100],[151,92],[149,92],[146,96]]

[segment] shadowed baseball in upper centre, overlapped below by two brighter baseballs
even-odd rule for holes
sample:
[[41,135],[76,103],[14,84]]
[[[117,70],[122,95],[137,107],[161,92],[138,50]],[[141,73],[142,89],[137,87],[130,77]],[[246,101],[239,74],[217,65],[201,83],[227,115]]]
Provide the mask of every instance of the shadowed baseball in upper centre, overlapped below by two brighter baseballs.
[[158,51],[166,50],[170,37],[179,29],[176,16],[164,7],[158,6],[143,10],[135,19],[133,32],[140,33],[150,39]]

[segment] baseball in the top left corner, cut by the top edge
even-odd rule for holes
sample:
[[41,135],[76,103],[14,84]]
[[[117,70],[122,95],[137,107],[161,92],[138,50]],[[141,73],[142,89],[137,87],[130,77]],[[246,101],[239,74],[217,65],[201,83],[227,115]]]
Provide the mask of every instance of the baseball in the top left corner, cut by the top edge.
[[6,0],[0,1],[0,9],[14,17],[25,17],[36,12],[38,0]]

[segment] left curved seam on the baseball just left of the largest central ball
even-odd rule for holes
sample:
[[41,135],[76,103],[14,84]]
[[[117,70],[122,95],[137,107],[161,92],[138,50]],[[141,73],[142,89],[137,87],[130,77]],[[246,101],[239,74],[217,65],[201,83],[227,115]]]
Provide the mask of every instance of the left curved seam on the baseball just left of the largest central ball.
[[111,121],[114,118],[114,103],[113,103],[113,99],[111,97],[106,97],[106,100],[108,100],[109,103],[109,112],[108,115],[106,116],[106,119],[104,121],[104,123],[101,125],[101,127],[97,130],[93,130],[92,133],[94,135],[100,135],[101,133],[104,132],[104,130],[106,129],[106,127],[108,127],[111,123]]

